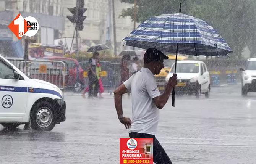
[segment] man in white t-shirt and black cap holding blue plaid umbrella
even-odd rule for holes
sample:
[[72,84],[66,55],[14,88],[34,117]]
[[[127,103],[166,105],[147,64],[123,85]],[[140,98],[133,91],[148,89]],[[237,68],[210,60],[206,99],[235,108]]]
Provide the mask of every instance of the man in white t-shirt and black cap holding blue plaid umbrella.
[[[158,109],[164,107],[171,90],[172,106],[175,106],[174,87],[177,84],[177,75],[175,66],[175,74],[169,79],[164,93],[160,95],[153,75],[162,69],[163,59],[168,59],[167,56],[166,58],[165,55],[160,55],[163,54],[161,51],[175,52],[177,61],[178,53],[227,56],[232,50],[205,21],[181,14],[181,4],[178,14],[163,14],[150,18],[136,27],[124,40],[128,46],[147,51],[141,71],[131,76],[114,92],[118,119],[126,129],[130,128],[130,138],[153,138],[153,159],[156,164],[171,164],[155,135],[159,121]],[[126,92],[132,92],[132,121],[123,116],[122,95]]]

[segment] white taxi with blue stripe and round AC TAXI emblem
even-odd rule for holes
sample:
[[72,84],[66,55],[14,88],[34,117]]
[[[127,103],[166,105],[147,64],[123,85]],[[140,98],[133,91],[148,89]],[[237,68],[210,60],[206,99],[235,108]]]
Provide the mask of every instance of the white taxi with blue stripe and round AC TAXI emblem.
[[7,128],[30,121],[32,129],[50,131],[66,119],[66,103],[60,88],[30,79],[1,55],[0,100],[0,124]]

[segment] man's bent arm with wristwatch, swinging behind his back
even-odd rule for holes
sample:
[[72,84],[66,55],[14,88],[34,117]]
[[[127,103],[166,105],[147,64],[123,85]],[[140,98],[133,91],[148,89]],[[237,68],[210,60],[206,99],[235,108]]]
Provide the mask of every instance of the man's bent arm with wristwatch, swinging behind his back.
[[115,91],[115,109],[117,110],[117,115],[119,118],[119,121],[125,125],[126,129],[130,129],[131,127],[131,120],[127,117],[122,117],[123,115],[123,108],[122,108],[122,95],[127,93],[128,90],[125,87],[124,84],[121,84]]

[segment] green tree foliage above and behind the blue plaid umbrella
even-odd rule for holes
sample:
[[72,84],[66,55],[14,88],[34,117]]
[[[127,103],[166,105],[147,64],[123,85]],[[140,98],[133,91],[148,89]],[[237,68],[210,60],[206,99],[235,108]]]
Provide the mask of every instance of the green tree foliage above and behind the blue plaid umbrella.
[[[134,0],[120,0],[133,4]],[[256,0],[137,0],[137,22],[153,16],[178,13],[180,2],[182,13],[202,19],[213,26],[227,41],[237,58],[243,48],[256,53]],[[121,17],[131,16],[134,7],[124,9]],[[255,54],[256,55],[256,54]]]

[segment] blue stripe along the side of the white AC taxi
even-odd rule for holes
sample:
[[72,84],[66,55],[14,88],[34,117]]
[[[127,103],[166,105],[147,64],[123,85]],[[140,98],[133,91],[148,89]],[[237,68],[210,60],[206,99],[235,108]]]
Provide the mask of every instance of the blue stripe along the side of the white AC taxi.
[[[29,92],[29,89],[30,87],[0,86],[0,91],[9,91],[9,92]],[[48,94],[56,95],[62,98],[60,93],[50,89],[33,88],[33,92],[29,92],[29,93],[48,93]]]

